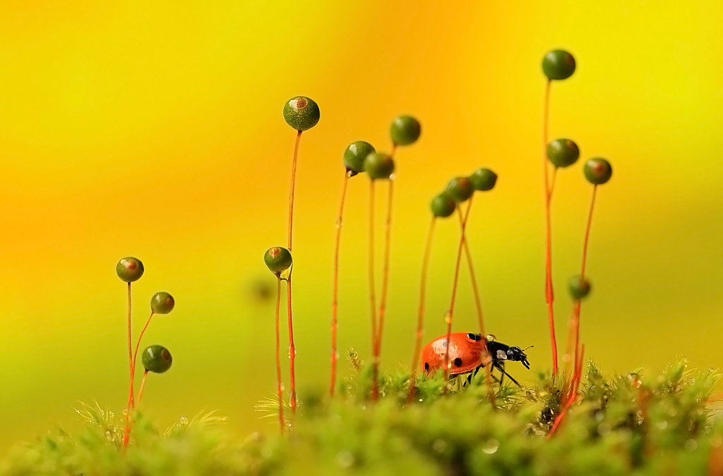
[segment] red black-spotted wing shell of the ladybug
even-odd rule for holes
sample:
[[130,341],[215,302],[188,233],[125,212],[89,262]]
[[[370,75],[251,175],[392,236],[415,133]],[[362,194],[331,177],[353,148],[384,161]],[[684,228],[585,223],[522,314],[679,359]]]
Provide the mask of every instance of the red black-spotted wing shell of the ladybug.
[[[469,335],[467,332],[450,334],[450,374],[452,375],[470,372],[482,365],[482,339],[473,339]],[[434,372],[444,368],[446,352],[447,334],[425,345],[422,349],[424,371]]]

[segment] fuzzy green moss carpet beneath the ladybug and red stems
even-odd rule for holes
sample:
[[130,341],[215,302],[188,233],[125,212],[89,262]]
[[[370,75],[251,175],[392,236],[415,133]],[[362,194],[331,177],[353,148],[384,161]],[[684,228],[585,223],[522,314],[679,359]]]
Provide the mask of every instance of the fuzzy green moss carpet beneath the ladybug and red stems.
[[723,474],[723,422],[711,409],[719,373],[684,360],[659,375],[604,376],[587,363],[578,399],[549,438],[564,378],[540,374],[523,389],[495,383],[492,404],[484,372],[448,385],[420,376],[407,404],[400,372],[382,375],[380,400],[370,402],[369,367],[351,360],[354,376],[335,399],[301,395],[283,435],[269,401],[259,405],[270,420],[265,435],[231,436],[213,413],[165,429],[139,414],[124,450],[122,415],[82,405],[86,428],[16,446],[0,475]]

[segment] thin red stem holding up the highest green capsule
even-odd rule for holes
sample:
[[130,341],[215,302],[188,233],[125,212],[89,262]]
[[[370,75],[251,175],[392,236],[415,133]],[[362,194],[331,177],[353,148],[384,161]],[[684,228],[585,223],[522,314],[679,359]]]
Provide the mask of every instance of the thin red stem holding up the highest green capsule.
[[552,341],[552,376],[557,375],[557,339],[555,338],[555,292],[552,290],[552,185],[549,183],[547,165],[547,135],[549,129],[549,96],[552,81],[548,80],[544,91],[544,113],[542,115],[542,170],[544,177],[544,204],[545,204],[545,300],[549,314],[549,335]]

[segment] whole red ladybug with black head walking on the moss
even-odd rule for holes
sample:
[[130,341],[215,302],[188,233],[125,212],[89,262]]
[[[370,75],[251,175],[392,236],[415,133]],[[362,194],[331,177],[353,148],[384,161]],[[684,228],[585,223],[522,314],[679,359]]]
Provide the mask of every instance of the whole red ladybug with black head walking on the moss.
[[[447,334],[444,334],[424,346],[422,349],[422,368],[424,368],[425,372],[434,372],[444,367],[447,344]],[[509,373],[505,372],[505,360],[521,362],[525,368],[529,369],[530,363],[527,361],[525,352],[520,347],[502,344],[502,342],[497,342],[493,338],[487,338],[487,351],[492,358],[492,367],[502,372],[502,378],[506,375],[519,386],[520,384]],[[473,372],[484,367],[486,363],[489,363],[489,360],[487,362],[482,361],[483,352],[482,334],[473,334],[472,332],[453,332],[450,334],[450,375]],[[500,378],[501,383],[502,379]]]

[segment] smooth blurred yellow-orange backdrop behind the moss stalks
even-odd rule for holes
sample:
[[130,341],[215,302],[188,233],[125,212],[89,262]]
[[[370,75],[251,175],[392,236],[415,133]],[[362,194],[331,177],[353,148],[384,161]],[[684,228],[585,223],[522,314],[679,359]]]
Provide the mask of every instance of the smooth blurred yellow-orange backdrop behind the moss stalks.
[[[273,303],[254,290],[275,285],[262,254],[286,243],[295,133],[281,110],[299,94],[321,109],[301,139],[296,189],[301,394],[328,385],[341,155],[358,139],[388,150],[401,113],[419,118],[422,137],[396,155],[382,366],[411,360],[429,199],[485,165],[500,178],[476,199],[469,239],[487,327],[534,345],[533,370],[549,369],[540,63],[552,48],[578,69],[553,86],[550,138],[574,139],[583,159],[603,155],[615,170],[592,227],[587,355],[616,372],[678,355],[718,368],[722,30],[723,5],[702,0],[3,2],[0,451],[56,424],[76,428],[77,400],[121,412],[126,308],[114,267],[129,255],[146,268],[133,285],[135,335],[153,293],[176,298],[144,339],[174,355],[171,371],[151,376],[145,409],[161,425],[218,409],[241,435],[275,430],[253,410],[275,389]],[[343,228],[344,374],[343,350],[369,355],[367,188],[366,176],[351,180]],[[581,164],[560,173],[561,350],[590,193]],[[436,238],[426,339],[445,332],[455,222]],[[460,289],[455,330],[475,330],[466,274]]]

